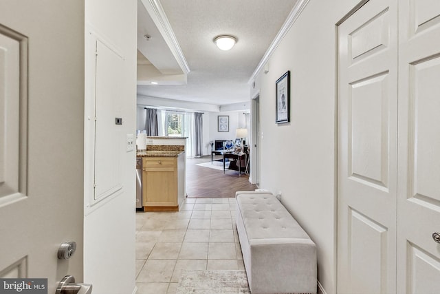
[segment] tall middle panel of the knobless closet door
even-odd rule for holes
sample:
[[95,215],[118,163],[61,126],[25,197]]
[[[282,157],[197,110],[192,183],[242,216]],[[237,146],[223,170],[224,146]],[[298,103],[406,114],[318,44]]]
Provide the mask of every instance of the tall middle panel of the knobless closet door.
[[388,72],[351,83],[349,176],[388,191]]

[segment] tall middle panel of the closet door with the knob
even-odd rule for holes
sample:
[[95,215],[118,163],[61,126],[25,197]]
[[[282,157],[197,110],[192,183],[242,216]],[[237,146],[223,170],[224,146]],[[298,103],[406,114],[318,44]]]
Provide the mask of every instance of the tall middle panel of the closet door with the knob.
[[410,194],[439,207],[440,58],[410,65],[410,80]]

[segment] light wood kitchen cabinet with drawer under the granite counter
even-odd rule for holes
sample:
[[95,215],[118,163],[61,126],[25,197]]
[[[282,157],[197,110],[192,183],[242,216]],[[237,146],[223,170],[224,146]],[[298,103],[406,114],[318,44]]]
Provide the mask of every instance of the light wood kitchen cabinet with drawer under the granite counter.
[[144,211],[179,210],[179,204],[184,199],[184,181],[181,180],[184,178],[183,158],[184,153],[177,157],[142,158]]

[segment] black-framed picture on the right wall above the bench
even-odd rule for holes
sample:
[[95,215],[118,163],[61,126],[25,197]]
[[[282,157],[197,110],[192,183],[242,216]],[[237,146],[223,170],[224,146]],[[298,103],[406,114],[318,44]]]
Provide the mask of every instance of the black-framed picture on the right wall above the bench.
[[290,121],[290,71],[288,70],[276,81],[276,123]]

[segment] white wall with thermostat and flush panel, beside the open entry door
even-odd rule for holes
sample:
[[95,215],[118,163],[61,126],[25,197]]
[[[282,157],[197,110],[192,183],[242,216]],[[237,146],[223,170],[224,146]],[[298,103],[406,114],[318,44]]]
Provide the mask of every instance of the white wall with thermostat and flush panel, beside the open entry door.
[[[116,67],[109,59],[100,57],[105,56],[103,50],[98,52],[100,66],[111,68],[112,76],[122,77],[117,85],[107,85],[113,87],[111,94],[116,98],[109,97],[111,94],[106,98],[108,101],[114,98],[117,106],[110,107],[112,115],[123,119],[111,142],[112,146],[118,146],[121,189],[100,202],[94,202],[94,175],[91,174],[94,171],[93,159],[90,160],[94,150],[94,125],[87,119],[94,116],[95,38],[118,52],[122,60]],[[130,294],[135,291],[135,151],[127,152],[125,145],[126,134],[135,134],[136,127],[137,1],[86,0],[85,43],[84,280],[93,284],[93,293]],[[104,121],[102,125],[112,130],[115,127],[114,120]],[[103,183],[97,185],[102,187]]]

